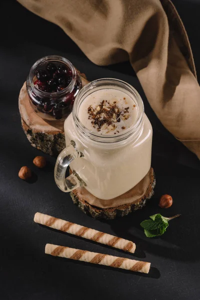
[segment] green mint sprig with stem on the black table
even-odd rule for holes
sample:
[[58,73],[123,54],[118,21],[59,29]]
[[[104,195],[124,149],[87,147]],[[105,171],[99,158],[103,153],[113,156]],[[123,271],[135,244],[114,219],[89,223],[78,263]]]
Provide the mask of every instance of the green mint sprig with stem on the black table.
[[168,221],[179,214],[172,217],[164,217],[160,213],[150,215],[150,219],[144,220],[140,223],[141,227],[144,228],[144,233],[147,237],[154,237],[162,235],[168,227]]

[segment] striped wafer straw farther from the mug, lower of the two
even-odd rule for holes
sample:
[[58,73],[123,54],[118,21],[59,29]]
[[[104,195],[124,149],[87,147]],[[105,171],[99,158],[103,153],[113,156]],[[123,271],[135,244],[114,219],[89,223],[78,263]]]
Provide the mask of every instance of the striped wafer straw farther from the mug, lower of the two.
[[129,258],[95,253],[53,244],[46,244],[45,253],[53,256],[118,267],[135,272],[148,273],[150,268],[150,262],[138,261]]

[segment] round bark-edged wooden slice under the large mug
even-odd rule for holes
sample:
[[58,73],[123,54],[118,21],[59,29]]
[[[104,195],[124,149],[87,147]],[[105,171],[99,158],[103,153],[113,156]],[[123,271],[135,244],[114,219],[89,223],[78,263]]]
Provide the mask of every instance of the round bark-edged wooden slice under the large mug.
[[[118,216],[124,216],[128,213],[141,209],[148,199],[150,199],[153,195],[153,189],[155,186],[155,175],[153,172],[153,168],[151,167],[149,172],[146,174],[146,176],[149,176],[149,185],[146,188],[146,191],[144,194],[139,197],[138,199],[134,199],[134,201],[130,201],[129,203],[118,205],[115,207],[109,207],[109,208],[102,208],[95,205],[91,205],[88,203],[88,198],[91,199],[91,197],[94,197],[91,195],[84,187],[78,187],[77,189],[74,189],[70,192],[70,196],[73,200],[73,203],[76,204],[84,213],[97,218],[97,219],[114,219]],[[143,179],[142,179],[143,180]],[[138,183],[139,184],[139,183]],[[122,196],[126,198],[126,194],[129,195],[132,193],[132,196],[135,194],[135,190],[137,188],[137,185],[133,187],[128,192],[124,193]],[[116,197],[112,199],[117,203],[119,197]],[[121,198],[121,196],[120,196]],[[99,199],[100,200],[100,199]]]

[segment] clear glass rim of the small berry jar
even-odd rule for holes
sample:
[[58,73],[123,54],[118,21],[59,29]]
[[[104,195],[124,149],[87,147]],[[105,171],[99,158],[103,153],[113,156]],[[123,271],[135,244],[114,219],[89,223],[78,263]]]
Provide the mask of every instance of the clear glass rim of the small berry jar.
[[[55,91],[55,92],[41,91],[34,85],[34,82],[32,80],[34,77],[34,72],[38,68],[38,66],[41,64],[44,64],[45,62],[49,62],[49,61],[62,62],[65,65],[67,65],[72,72],[72,79],[71,79],[70,83],[60,91]],[[73,66],[73,64],[65,57],[62,57],[59,55],[47,55],[47,56],[43,56],[43,57],[39,58],[38,60],[36,60],[33,63],[33,65],[30,68],[30,71],[29,71],[29,74],[27,77],[27,81],[30,84],[30,87],[36,92],[36,94],[38,96],[45,96],[45,97],[60,96],[61,97],[65,93],[72,91],[72,89],[75,85],[75,81],[76,81],[76,69]]]

